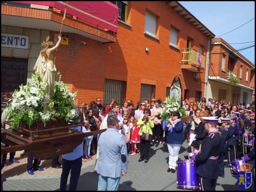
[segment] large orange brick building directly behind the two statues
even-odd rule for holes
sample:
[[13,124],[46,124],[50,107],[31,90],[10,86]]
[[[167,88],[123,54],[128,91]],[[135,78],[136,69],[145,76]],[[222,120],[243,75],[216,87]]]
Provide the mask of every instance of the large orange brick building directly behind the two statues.
[[[181,80],[182,98],[201,100],[207,93],[215,35],[175,1],[113,3],[119,9],[117,33],[74,16],[64,21],[61,34],[68,37],[68,45],[59,46],[55,65],[71,92],[78,90],[78,104],[96,97],[104,103],[113,97],[120,103],[164,100],[175,76]],[[31,80],[40,43],[48,34],[55,40],[61,14],[32,4],[2,4],[2,35],[29,36],[28,49],[1,47],[2,72],[16,76],[15,83],[5,78],[2,94]],[[18,69],[12,68],[14,62]]]

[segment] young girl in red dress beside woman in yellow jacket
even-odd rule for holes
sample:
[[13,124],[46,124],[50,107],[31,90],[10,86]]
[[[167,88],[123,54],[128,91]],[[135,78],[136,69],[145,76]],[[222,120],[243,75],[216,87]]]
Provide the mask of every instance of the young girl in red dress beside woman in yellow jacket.
[[132,155],[135,155],[137,144],[140,143],[140,136],[138,134],[139,130],[140,130],[140,126],[137,126],[137,120],[134,116],[130,116],[129,126],[130,126],[130,130],[131,130],[130,140],[132,142],[131,152],[132,152]]

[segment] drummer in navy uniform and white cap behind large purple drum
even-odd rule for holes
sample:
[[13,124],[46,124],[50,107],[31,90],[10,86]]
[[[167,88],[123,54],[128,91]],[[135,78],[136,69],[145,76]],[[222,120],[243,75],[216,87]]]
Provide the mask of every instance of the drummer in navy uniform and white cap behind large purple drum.
[[203,117],[205,130],[208,132],[201,144],[201,152],[191,157],[198,163],[197,174],[202,190],[215,190],[218,178],[218,158],[223,146],[221,136],[216,129],[218,119],[214,117]]

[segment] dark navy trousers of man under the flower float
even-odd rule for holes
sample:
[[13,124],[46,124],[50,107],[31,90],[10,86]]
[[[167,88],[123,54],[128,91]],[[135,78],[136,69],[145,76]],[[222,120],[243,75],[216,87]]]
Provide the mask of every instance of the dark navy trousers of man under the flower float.
[[62,158],[62,173],[61,173],[61,184],[60,190],[65,191],[67,187],[67,178],[70,172],[69,180],[69,191],[75,191],[77,188],[77,183],[81,173],[82,167],[82,156],[75,160],[66,160]]

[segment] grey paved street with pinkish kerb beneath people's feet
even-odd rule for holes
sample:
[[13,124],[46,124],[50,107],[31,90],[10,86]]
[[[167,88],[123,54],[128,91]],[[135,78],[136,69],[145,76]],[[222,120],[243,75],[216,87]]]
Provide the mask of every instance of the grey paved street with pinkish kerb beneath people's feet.
[[[187,142],[184,142],[179,159],[184,159],[184,155],[188,155],[189,152]],[[29,175],[26,172],[26,155],[16,152],[15,157],[20,163],[10,164],[7,159],[8,166],[2,170],[2,176],[7,180],[4,182],[4,190],[59,190],[61,169],[51,168],[51,160],[41,162],[40,167],[44,168],[44,171],[36,171],[34,175]],[[139,154],[128,155],[128,173],[121,178],[119,190],[180,190],[176,189],[177,172],[167,172],[167,146],[161,144],[157,148],[151,147],[147,164],[144,161],[138,162],[139,157]],[[98,174],[94,170],[95,158],[94,155],[93,160],[83,162],[77,190],[97,190]],[[226,167],[225,178],[218,178],[216,190],[243,189],[237,184],[237,175],[232,175],[230,168]]]

